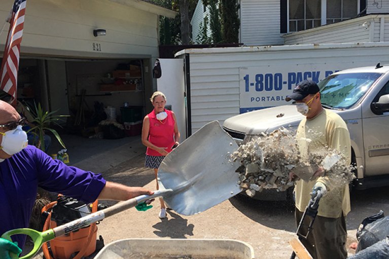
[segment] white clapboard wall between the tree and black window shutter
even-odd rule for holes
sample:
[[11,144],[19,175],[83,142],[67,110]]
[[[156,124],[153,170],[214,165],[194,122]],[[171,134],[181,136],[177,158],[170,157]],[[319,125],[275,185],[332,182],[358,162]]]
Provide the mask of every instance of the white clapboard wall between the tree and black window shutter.
[[274,0],[241,0],[240,42],[246,46],[283,45],[280,4]]

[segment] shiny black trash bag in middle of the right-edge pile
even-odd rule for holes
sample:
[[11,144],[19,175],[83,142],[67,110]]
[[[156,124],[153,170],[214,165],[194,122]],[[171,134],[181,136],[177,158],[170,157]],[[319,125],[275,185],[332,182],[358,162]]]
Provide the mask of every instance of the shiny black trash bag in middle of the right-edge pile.
[[381,241],[389,235],[389,216],[383,211],[365,218],[357,231],[358,247],[356,253]]

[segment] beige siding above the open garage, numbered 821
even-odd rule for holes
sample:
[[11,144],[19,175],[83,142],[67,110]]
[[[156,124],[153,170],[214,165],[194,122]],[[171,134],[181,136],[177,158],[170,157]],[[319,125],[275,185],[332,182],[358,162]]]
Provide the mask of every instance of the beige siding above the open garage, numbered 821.
[[[4,21],[13,0],[0,2]],[[2,22],[3,24],[3,22]],[[94,28],[107,30],[93,36]],[[8,26],[0,36],[4,49]],[[99,43],[101,51],[93,51]],[[44,56],[158,56],[158,15],[105,0],[27,1],[21,52]]]

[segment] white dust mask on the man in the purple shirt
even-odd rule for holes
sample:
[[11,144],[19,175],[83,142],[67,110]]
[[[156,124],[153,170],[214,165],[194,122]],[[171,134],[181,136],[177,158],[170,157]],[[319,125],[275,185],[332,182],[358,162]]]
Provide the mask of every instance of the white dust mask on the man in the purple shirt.
[[27,133],[22,130],[22,126],[20,125],[14,130],[9,130],[5,133],[0,132],[0,134],[3,135],[0,149],[10,156],[19,153],[28,144]]

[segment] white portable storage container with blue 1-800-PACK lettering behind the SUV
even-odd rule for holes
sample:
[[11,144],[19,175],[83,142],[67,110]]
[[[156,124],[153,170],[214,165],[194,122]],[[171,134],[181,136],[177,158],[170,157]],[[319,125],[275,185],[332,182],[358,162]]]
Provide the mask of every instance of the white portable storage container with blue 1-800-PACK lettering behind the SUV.
[[175,57],[160,59],[157,86],[178,113],[184,139],[210,121],[284,105],[304,79],[389,63],[389,42],[186,49]]

